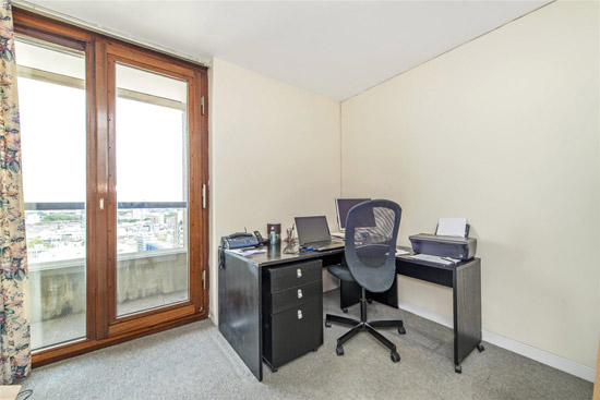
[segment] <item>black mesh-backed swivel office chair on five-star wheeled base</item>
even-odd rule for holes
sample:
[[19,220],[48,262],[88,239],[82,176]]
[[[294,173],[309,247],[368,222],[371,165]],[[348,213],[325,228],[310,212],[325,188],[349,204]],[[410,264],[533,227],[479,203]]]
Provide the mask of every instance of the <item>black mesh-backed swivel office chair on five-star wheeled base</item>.
[[392,352],[392,361],[397,363],[400,355],[396,346],[374,328],[398,328],[406,334],[400,319],[367,320],[365,290],[381,293],[388,290],[396,277],[396,240],[400,226],[401,208],[396,203],[374,199],[356,205],[346,218],[346,264],[331,265],[327,270],[340,280],[357,282],[362,288],[360,299],[360,320],[327,314],[325,326],[332,323],[349,325],[353,328],[337,339],[337,355],[344,355],[343,344],[361,330],[367,330]]

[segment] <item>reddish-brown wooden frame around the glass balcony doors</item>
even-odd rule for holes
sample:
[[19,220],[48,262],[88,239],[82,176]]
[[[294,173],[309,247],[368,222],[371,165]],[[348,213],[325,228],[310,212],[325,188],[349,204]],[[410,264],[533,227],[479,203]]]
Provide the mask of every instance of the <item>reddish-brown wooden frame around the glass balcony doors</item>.
[[[151,335],[177,326],[204,319],[208,316],[208,194],[203,208],[202,187],[208,187],[208,78],[207,68],[172,56],[148,50],[135,45],[58,22],[35,13],[13,8],[14,32],[20,35],[53,43],[85,52],[86,63],[86,132],[87,132],[87,207],[86,235],[97,237],[107,232],[87,246],[86,269],[86,334],[82,340],[41,349],[33,353],[33,366],[41,366],[59,360],[83,354],[96,349]],[[16,54],[19,57],[19,54]],[[116,238],[110,232],[116,227],[116,193],[113,179],[109,175],[113,162],[115,146],[112,121],[109,120],[115,76],[108,73],[111,60],[123,59],[127,64],[148,71],[178,76],[189,82],[189,293],[187,302],[151,310],[116,319],[113,281],[116,265]],[[132,63],[132,60],[133,63]],[[167,69],[168,66],[168,69]],[[111,81],[112,80],[112,81]],[[139,94],[125,94],[139,96]],[[201,96],[204,110],[201,110]],[[111,100],[112,98],[112,100]],[[170,105],[167,107],[177,107]],[[202,112],[204,111],[204,112]],[[112,131],[111,131],[112,130]],[[109,149],[111,148],[111,149]],[[111,172],[113,173],[113,172]],[[100,210],[100,198],[107,207]],[[106,240],[105,240],[106,239]],[[88,242],[91,240],[88,239]],[[112,247],[111,247],[112,246]],[[199,249],[200,247],[200,249]],[[204,279],[203,279],[204,278]]]

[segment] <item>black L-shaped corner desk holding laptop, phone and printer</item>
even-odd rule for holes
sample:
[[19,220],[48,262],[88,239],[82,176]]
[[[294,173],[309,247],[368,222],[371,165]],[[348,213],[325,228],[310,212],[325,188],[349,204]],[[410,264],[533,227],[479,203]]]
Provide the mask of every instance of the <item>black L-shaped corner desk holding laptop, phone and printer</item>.
[[[292,265],[307,265],[311,262],[322,262],[322,266],[327,266],[339,264],[344,258],[343,249],[303,253],[298,253],[297,247],[286,249],[285,244],[267,245],[262,249],[266,250],[266,253],[248,257],[225,252],[218,275],[219,331],[259,380],[263,379],[263,359],[266,361],[263,335],[264,320],[269,312],[263,308],[264,292],[268,291],[269,271]],[[454,365],[455,371],[460,373],[463,360],[475,349],[483,350],[481,259],[471,258],[453,266],[443,266],[398,256],[396,271],[399,275],[453,289]],[[360,291],[344,287],[341,291],[340,306],[345,307],[358,302],[356,294]],[[352,292],[356,294],[351,294]],[[319,295],[322,296],[321,293]],[[387,292],[372,293],[371,298],[398,308],[397,282],[394,281],[394,286]],[[314,324],[321,324],[322,329],[322,315],[321,318],[311,320]],[[410,330],[410,326],[406,328]],[[322,334],[320,339],[323,343]]]

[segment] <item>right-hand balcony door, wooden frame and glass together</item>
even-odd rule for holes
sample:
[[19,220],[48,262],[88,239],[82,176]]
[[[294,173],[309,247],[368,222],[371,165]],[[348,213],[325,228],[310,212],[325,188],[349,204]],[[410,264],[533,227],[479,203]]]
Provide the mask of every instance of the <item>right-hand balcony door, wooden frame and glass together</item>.
[[[108,335],[203,307],[193,72],[107,50]],[[195,140],[195,141],[194,141]],[[192,234],[191,234],[192,233]],[[194,268],[195,266],[195,268]]]

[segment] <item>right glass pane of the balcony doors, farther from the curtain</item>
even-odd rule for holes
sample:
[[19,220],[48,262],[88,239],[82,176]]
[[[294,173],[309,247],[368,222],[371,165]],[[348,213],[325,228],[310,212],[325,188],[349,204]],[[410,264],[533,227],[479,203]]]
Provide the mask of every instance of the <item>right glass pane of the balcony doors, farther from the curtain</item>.
[[116,64],[117,316],[183,302],[188,84]]

